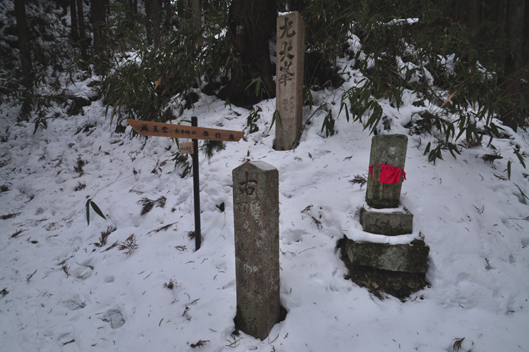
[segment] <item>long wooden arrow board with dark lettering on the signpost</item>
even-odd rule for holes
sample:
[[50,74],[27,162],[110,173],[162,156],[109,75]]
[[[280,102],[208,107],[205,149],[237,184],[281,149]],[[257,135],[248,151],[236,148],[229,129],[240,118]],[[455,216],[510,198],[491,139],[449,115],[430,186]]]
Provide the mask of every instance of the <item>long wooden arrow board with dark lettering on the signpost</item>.
[[207,139],[209,141],[238,142],[243,131],[217,130],[216,128],[173,125],[171,123],[127,120],[128,124],[142,136]]

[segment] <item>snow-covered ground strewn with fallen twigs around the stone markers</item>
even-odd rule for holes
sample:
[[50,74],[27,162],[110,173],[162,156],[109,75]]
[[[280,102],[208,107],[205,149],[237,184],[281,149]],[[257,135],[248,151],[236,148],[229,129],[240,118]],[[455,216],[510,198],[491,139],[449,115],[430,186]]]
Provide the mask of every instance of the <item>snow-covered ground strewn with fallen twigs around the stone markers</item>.
[[[315,93],[315,105],[337,112],[339,94]],[[391,118],[384,133],[408,134],[403,125],[424,109],[404,103],[397,111],[382,101]],[[401,202],[414,214],[413,235],[430,245],[430,287],[404,302],[381,301],[343,278],[336,251],[344,234],[366,236],[365,188],[348,181],[367,174],[370,135],[342,115],[337,134],[324,137],[322,112],[296,150],[274,151],[274,106],[260,103],[259,131],[246,140],[226,143],[209,161],[200,155],[199,251],[187,235],[193,182],[174,170],[171,139],[112,132],[101,101],[35,134],[32,123],[16,123],[18,108],[0,106],[0,351],[192,351],[200,340],[200,351],[457,351],[463,338],[461,351],[529,351],[529,207],[521,195],[529,180],[513,153],[517,144],[528,154],[527,133],[494,140],[504,158],[493,163],[482,159],[491,153],[484,146],[461,148],[458,160],[446,153],[435,165],[423,156],[429,137],[408,136]],[[306,107],[305,119],[311,114]],[[248,111],[212,96],[181,119],[193,115],[203,127],[248,130]],[[232,334],[231,171],[248,159],[279,170],[288,314],[265,341]],[[162,196],[163,208],[140,215],[138,201]],[[87,199],[107,220],[90,208],[87,225]],[[96,246],[109,226],[107,244]],[[132,253],[109,249],[131,234]]]

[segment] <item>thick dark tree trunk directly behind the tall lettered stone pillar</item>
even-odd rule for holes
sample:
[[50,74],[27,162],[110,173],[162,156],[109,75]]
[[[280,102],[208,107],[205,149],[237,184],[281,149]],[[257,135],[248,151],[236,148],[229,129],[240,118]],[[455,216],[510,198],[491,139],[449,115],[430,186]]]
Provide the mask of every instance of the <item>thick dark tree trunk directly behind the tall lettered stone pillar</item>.
[[[233,43],[231,80],[221,98],[238,106],[251,106],[276,95],[272,79],[275,70],[270,61],[268,41],[274,32],[277,1],[233,0],[229,9],[229,42]],[[262,81],[262,95],[246,89],[254,79]]]

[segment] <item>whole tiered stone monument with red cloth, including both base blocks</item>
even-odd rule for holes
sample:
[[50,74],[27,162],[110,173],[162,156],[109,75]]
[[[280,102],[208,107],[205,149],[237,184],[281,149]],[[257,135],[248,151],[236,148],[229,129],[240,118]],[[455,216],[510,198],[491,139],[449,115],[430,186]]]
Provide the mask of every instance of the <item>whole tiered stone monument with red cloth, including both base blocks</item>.
[[[413,214],[397,208],[401,199],[408,137],[386,134],[372,138],[370,175],[365,201],[371,208],[360,210],[360,224],[365,232],[384,236],[413,233]],[[386,175],[381,177],[381,172]],[[390,177],[394,176],[394,177]],[[347,239],[346,252],[353,265],[380,270],[424,273],[430,253],[422,239],[410,244],[387,244]]]

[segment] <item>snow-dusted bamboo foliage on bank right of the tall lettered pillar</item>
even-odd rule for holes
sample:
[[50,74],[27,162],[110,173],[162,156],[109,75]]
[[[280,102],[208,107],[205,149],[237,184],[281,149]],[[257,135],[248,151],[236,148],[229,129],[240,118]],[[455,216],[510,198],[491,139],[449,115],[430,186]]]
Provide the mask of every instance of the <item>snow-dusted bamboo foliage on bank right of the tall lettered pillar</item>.
[[[458,141],[463,138],[467,144],[490,145],[494,137],[503,136],[494,118],[509,101],[501,97],[497,56],[491,54],[501,49],[503,38],[489,35],[480,41],[472,28],[442,18],[442,14],[450,13],[446,11],[446,5],[452,4],[448,0],[436,4],[360,1],[347,13],[341,11],[350,8],[348,1],[333,1],[336,6],[324,2],[293,1],[305,6],[303,17],[308,23],[308,40],[312,40],[310,51],[326,48],[334,58],[348,54],[353,68],[363,76],[355,87],[343,92],[339,115],[344,112],[348,121],[352,116],[353,121],[374,133],[384,120],[380,99],[387,99],[397,109],[403,105],[404,92],[416,97],[415,106],[425,106],[428,101],[430,106],[420,113],[421,118],[406,127],[415,134],[433,137],[434,141],[425,148],[432,163],[442,158],[445,151],[456,158],[460,154]],[[313,20],[317,22],[312,23]],[[337,23],[341,30],[333,27]],[[483,21],[478,31],[483,28],[495,27]],[[320,36],[330,39],[324,42]],[[340,47],[336,46],[338,43]],[[526,111],[523,94],[519,102]],[[327,136],[334,134],[335,119],[331,111],[326,112],[322,132]],[[523,156],[518,161],[525,165]]]

